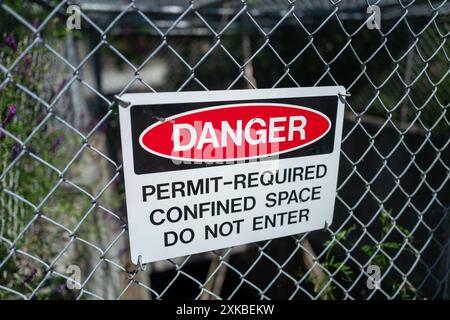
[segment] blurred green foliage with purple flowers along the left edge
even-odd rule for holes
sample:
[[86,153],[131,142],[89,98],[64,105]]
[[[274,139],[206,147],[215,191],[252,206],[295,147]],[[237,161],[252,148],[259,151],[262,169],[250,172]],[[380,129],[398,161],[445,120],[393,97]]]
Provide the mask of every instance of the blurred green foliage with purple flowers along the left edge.
[[[33,23],[39,23],[47,14],[33,5],[25,10],[26,4],[18,1],[8,5],[16,12],[29,15],[27,19]],[[49,22],[43,31],[47,42],[64,36],[61,25],[57,20]],[[0,193],[0,236],[6,239],[0,242],[0,261],[12,252],[7,244],[15,241],[16,249],[49,263],[61,249],[61,244],[68,240],[67,233],[46,222],[40,215],[64,224],[66,217],[70,216],[68,213],[74,212],[74,195],[69,192],[61,195],[52,206],[44,206],[42,212],[36,212],[34,207],[47,197],[59,181],[57,172],[51,166],[63,169],[73,156],[70,150],[79,142],[73,132],[58,126],[53,118],[47,120],[46,106],[26,92],[50,104],[64,85],[64,79],[58,83],[48,82],[49,74],[55,72],[48,51],[42,45],[28,50],[33,35],[10,15],[0,21],[0,37],[0,62],[6,67],[13,66],[12,81],[0,94],[0,126],[7,132],[0,132],[0,173],[6,172],[0,181],[0,188],[7,191]],[[0,78],[0,82],[4,80]],[[26,89],[22,90],[19,86]],[[11,166],[11,163],[14,165]],[[60,188],[64,188],[64,184]],[[86,207],[87,204],[80,205]],[[30,221],[33,223],[28,226]],[[0,270],[0,285],[27,295],[39,287],[45,272],[43,264],[14,252]],[[60,297],[57,288],[63,283],[63,278],[51,276],[40,286],[35,297]],[[17,296],[0,291],[0,298]]]

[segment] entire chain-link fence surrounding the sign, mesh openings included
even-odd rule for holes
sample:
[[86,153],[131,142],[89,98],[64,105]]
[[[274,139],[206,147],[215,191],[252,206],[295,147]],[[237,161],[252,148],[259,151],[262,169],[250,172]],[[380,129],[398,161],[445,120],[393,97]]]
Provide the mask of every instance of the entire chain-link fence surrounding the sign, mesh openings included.
[[[447,1],[0,6],[0,298],[449,298]],[[349,93],[330,227],[131,263],[115,94],[322,85]]]

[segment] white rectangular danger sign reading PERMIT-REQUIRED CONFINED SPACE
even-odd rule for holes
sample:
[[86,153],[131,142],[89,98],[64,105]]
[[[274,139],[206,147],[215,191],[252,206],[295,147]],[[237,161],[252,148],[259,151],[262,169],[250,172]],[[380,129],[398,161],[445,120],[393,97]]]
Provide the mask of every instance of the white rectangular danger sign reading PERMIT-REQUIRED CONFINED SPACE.
[[131,256],[142,263],[331,224],[343,87],[125,94]]

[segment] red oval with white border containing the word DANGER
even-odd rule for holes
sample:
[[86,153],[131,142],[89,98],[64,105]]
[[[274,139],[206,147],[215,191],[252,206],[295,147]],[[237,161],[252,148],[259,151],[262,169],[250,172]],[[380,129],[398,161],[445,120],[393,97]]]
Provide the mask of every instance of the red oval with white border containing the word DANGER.
[[321,139],[330,119],[306,107],[278,103],[221,105],[158,121],[139,137],[150,153],[174,160],[217,162],[293,151]]

